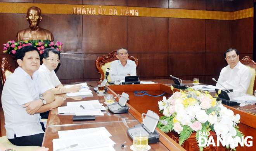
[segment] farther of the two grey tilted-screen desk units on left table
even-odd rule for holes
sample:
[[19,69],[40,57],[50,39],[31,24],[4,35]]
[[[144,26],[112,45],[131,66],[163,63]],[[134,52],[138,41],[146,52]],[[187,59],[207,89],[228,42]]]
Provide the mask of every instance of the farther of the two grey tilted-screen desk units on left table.
[[126,105],[127,100],[129,99],[129,95],[125,92],[122,95],[118,94],[119,102],[113,103],[112,105],[108,105],[107,108],[110,112],[116,113],[128,113],[129,107]]

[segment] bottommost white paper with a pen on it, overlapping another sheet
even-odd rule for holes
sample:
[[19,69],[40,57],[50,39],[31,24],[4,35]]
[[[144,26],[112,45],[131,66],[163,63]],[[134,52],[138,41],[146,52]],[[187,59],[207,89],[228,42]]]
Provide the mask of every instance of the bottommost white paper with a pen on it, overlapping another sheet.
[[64,139],[53,139],[52,143],[54,151],[56,151],[56,149],[65,148],[73,144],[78,144],[78,146],[66,149],[65,151],[77,151],[78,149],[107,147],[116,144],[107,136],[104,131],[98,131],[83,136],[68,137]]

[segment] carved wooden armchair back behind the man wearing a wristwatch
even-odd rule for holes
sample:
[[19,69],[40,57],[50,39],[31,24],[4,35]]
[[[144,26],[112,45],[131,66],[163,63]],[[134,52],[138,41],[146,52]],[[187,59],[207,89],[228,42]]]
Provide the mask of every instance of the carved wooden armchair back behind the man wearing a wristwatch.
[[2,83],[4,85],[6,78],[14,72],[14,68],[9,64],[7,58],[2,59]]

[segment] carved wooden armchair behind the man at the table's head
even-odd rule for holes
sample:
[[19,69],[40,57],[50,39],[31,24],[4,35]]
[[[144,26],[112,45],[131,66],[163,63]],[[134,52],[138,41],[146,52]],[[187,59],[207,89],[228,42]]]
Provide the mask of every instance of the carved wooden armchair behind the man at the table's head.
[[[96,69],[98,70],[98,74],[100,74],[100,80],[104,80],[106,76],[106,69],[110,68],[110,64],[112,61],[117,60],[116,58],[116,50],[109,53],[107,56],[103,55],[102,57],[98,57],[95,61]],[[128,56],[128,59],[135,61],[136,70],[138,69],[138,59],[133,56]],[[107,77],[107,81],[111,81],[110,76]]]

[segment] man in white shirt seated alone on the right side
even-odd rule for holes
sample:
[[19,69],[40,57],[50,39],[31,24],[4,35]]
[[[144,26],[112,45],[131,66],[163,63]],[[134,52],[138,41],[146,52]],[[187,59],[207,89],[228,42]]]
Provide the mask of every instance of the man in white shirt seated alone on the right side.
[[[228,66],[221,70],[218,82],[227,89],[246,93],[252,78],[251,71],[240,63],[236,49],[228,49],[224,56]],[[223,88],[220,84],[217,83],[216,87]]]

